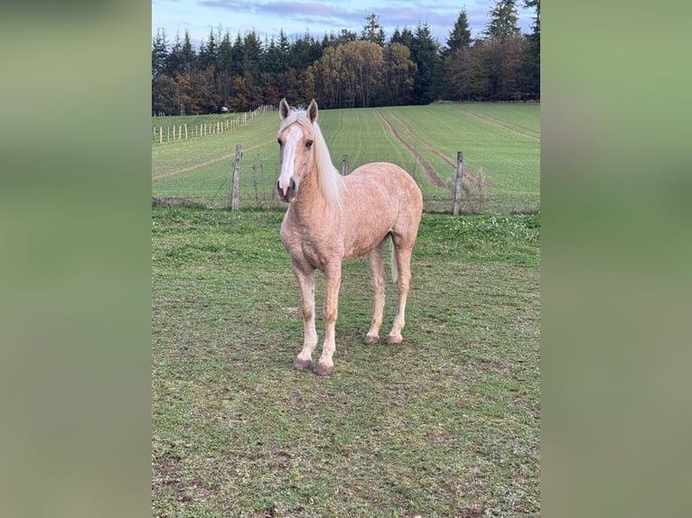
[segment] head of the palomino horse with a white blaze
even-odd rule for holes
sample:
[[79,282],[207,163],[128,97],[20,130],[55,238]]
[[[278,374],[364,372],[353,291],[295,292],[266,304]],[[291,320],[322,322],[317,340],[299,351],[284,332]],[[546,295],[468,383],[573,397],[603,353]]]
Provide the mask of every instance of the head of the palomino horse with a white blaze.
[[285,98],[279,104],[281,126],[278,132],[281,175],[276,182],[279,198],[288,203],[298,195],[300,183],[315,161],[313,150],[317,103],[314,99],[305,112],[291,111]]

